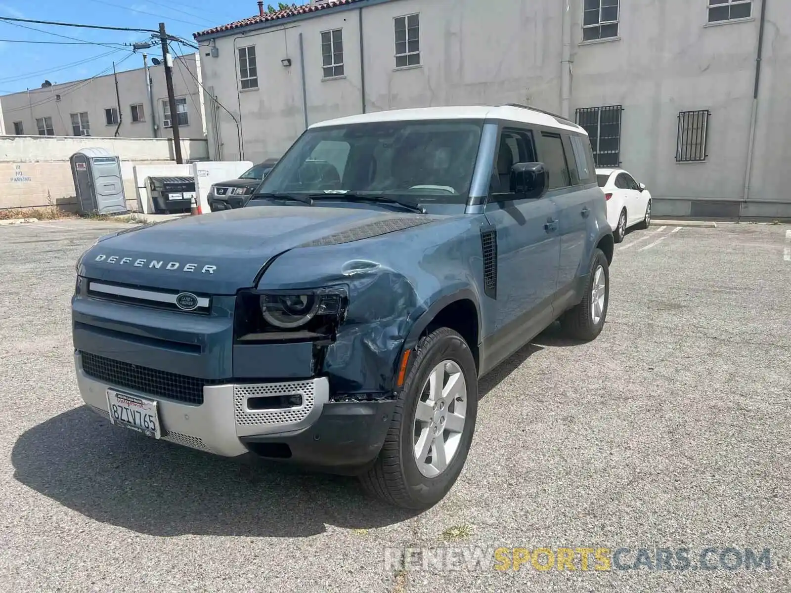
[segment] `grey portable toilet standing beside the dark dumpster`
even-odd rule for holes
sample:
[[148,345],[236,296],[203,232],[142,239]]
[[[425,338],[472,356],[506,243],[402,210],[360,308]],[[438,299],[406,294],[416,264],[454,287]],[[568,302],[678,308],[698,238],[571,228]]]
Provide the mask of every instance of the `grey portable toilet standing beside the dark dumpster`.
[[86,148],[71,155],[71,176],[81,214],[126,214],[121,161],[103,148]]

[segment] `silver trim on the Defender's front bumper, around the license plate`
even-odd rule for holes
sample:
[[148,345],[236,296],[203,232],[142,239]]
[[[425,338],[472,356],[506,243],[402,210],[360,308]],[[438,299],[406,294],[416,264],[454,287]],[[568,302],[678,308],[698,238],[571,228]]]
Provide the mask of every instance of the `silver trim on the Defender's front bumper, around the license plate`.
[[[97,414],[109,418],[108,387],[155,399],[159,402],[162,440],[224,457],[248,452],[240,436],[278,434],[312,425],[329,400],[330,391],[326,377],[287,383],[229,383],[203,387],[203,403],[195,406],[96,380],[82,370],[79,353],[74,354],[74,368],[82,400]],[[251,410],[248,406],[249,398],[297,394],[301,395],[300,406],[269,410]]]

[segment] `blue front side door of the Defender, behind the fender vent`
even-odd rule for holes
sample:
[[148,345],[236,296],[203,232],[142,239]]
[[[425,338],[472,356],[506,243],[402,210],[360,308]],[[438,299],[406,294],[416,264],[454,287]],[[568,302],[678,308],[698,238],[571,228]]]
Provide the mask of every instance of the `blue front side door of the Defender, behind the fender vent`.
[[513,164],[536,162],[532,130],[505,128],[484,212],[497,237],[494,334],[487,357],[494,364],[535,337],[554,319],[560,236],[557,207],[544,195],[524,199],[511,192]]

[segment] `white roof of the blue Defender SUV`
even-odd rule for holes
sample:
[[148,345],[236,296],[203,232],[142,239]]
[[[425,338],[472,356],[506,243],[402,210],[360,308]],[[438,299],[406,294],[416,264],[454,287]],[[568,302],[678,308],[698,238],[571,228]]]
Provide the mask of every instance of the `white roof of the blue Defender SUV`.
[[374,111],[361,115],[348,115],[337,119],[312,124],[310,128],[344,126],[352,123],[395,122],[399,120],[429,119],[505,119],[513,122],[528,123],[537,126],[554,127],[570,130],[577,134],[585,134],[585,129],[577,126],[560,115],[552,115],[546,111],[521,105],[499,105],[497,107],[426,107],[417,109],[393,109],[391,111]]

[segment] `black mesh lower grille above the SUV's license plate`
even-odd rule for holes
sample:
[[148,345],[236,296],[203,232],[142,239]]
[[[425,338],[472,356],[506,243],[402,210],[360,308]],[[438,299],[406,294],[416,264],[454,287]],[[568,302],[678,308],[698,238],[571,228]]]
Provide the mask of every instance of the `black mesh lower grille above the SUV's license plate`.
[[161,398],[175,399],[178,402],[202,404],[203,387],[218,385],[221,380],[206,380],[175,372],[160,371],[128,362],[114,361],[97,354],[82,352],[82,370],[94,379],[115,387],[127,387]]

